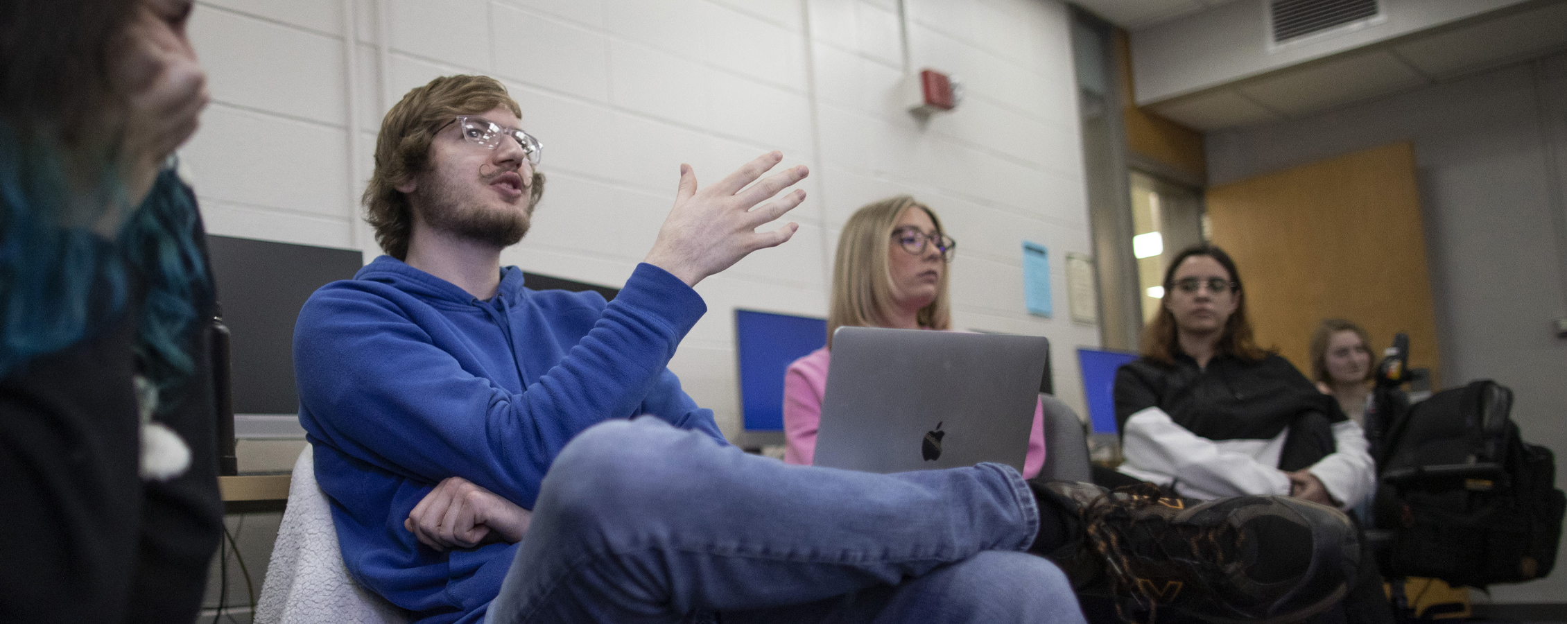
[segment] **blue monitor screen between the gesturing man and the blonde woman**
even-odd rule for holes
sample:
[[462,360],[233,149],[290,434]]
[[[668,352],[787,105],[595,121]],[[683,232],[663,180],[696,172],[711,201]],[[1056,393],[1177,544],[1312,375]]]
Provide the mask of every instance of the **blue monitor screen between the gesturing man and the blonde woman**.
[[827,343],[827,321],[735,310],[735,342],[746,431],[784,431],[784,372]]

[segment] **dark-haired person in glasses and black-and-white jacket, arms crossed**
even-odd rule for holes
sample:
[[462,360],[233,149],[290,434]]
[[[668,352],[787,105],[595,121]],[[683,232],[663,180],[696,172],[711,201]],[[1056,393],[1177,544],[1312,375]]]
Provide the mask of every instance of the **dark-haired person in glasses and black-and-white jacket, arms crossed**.
[[[1340,510],[1365,500],[1376,472],[1360,425],[1290,361],[1257,346],[1235,260],[1189,246],[1163,284],[1142,357],[1116,372],[1119,470],[1199,500],[1271,494]],[[1318,618],[1391,621],[1370,553],[1346,605]]]

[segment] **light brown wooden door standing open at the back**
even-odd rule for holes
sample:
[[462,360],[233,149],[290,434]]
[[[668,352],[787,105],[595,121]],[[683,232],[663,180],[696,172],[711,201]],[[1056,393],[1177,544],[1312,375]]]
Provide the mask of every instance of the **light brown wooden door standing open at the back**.
[[1310,376],[1312,331],[1341,317],[1371,334],[1373,362],[1402,331],[1410,365],[1439,370],[1412,144],[1210,187],[1207,202],[1213,243],[1246,281],[1258,345]]

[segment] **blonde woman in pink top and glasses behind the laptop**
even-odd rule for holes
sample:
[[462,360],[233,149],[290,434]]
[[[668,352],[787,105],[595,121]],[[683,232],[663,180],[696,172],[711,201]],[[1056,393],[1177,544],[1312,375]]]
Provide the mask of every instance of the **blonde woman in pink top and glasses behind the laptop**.
[[[815,458],[834,331],[951,329],[946,267],[954,252],[935,210],[907,194],[867,204],[849,216],[832,271],[827,346],[796,359],[784,373],[784,461],[810,466]],[[1044,463],[1044,409],[1036,403],[1023,477],[1039,475]]]

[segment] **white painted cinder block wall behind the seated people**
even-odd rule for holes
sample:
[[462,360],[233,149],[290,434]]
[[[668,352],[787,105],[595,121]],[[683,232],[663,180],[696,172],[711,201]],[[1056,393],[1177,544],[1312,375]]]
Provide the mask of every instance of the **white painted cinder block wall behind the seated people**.
[[[912,67],[968,93],[928,124],[895,97],[896,0],[199,5],[190,28],[213,105],[182,158],[213,234],[379,254],[357,198],[381,116],[432,77],[490,74],[544,143],[545,198],[503,256],[528,271],[622,284],[682,161],[704,183],[771,149],[812,168],[787,216],[796,237],[704,281],[708,314],[671,362],[726,433],[740,430],[733,309],[824,317],[840,226],[895,193],[931,204],[959,241],[956,325],[1048,336],[1058,395],[1083,409],[1073,350],[1098,332],[1067,315],[1064,257],[1091,241],[1070,16],[1055,0],[909,0]],[[1025,310],[1025,238],[1050,249],[1055,318]]]

